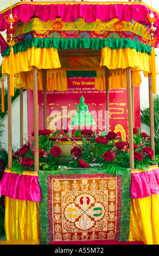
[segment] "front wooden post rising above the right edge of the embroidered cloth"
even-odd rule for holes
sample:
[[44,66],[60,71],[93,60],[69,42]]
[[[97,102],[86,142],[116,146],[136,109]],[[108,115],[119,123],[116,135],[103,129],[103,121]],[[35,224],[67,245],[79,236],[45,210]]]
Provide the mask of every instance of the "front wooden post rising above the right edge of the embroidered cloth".
[[128,111],[128,136],[129,136],[129,155],[130,168],[134,168],[134,153],[133,153],[133,115],[132,115],[132,85],[131,85],[131,68],[126,69],[127,75],[127,111]]

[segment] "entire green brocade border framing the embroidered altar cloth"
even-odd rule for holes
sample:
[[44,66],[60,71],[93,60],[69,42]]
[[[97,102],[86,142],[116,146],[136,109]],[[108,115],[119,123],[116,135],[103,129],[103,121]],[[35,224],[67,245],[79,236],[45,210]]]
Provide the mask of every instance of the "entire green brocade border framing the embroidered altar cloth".
[[[48,227],[48,206],[47,206],[47,177],[48,175],[65,175],[65,174],[96,174],[105,173],[102,169],[80,169],[80,170],[53,170],[39,171],[38,181],[41,190],[41,201],[39,202],[40,215],[40,234],[41,244],[49,245],[49,227]],[[119,241],[129,240],[130,230],[130,203],[131,203],[131,170],[121,177],[121,217],[120,217],[120,237]]]

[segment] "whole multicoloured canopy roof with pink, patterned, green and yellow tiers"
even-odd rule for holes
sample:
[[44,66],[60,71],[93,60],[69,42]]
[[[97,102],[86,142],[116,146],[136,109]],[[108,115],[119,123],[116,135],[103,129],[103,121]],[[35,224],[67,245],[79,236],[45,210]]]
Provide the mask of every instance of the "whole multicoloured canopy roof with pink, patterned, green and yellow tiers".
[[[156,10],[152,9],[152,13],[158,18]],[[12,14],[19,19],[14,23],[13,36],[17,39],[14,46],[17,88],[26,88],[23,72],[30,72],[33,66],[49,69],[51,74],[56,72],[54,77],[57,69],[69,71],[68,66],[62,65],[61,53],[100,54],[96,67],[89,70],[102,71],[107,66],[109,75],[114,74],[111,70],[128,67],[134,72],[144,71],[145,76],[152,72],[151,35],[146,31],[150,25],[146,17],[151,14],[151,8],[143,2],[20,2],[13,5]],[[0,13],[0,31],[7,29],[5,15],[10,15],[10,8]],[[159,38],[157,19],[155,26]],[[9,54],[8,46],[2,53],[4,75],[10,74]],[[69,57],[66,58],[63,63],[69,63]],[[74,58],[77,62],[77,56]],[[66,77],[66,74],[59,76]],[[134,86],[140,83],[139,74],[137,77]]]

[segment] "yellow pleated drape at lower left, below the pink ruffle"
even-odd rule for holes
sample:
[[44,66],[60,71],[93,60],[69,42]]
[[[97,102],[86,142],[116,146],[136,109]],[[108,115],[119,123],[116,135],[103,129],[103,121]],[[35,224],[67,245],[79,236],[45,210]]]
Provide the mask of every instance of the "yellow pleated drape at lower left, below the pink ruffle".
[[39,245],[39,203],[5,197],[4,225],[7,241],[34,240]]

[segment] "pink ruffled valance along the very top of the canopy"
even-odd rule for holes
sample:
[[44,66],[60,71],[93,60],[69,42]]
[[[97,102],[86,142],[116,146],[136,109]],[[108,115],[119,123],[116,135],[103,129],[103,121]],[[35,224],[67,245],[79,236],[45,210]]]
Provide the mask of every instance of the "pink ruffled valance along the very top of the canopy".
[[[151,9],[143,3],[123,4],[123,3],[18,3],[12,8],[12,13],[15,14],[22,22],[29,22],[32,17],[38,17],[42,21],[54,20],[61,17],[64,22],[72,22],[79,17],[85,19],[85,22],[94,22],[96,19],[101,21],[110,21],[118,18],[119,21],[146,22],[146,16],[151,13]],[[153,11],[154,15],[156,14]],[[4,16],[10,14],[10,9],[0,14],[0,31],[7,28],[7,22]],[[17,24],[19,21],[15,22]],[[159,20],[155,26],[158,27]],[[158,29],[157,29],[158,31]],[[159,33],[159,32],[158,32]],[[156,35],[157,36],[157,35]]]

